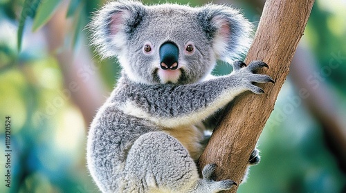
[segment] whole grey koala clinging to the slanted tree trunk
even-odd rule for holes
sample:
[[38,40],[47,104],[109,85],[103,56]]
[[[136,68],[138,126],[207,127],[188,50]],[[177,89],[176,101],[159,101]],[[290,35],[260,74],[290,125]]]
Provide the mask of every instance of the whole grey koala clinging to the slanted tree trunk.
[[[112,1],[95,13],[91,43],[102,57],[117,57],[121,77],[91,123],[87,165],[102,192],[220,192],[234,181],[212,180],[210,163],[199,176],[203,122],[238,94],[273,82],[233,63],[213,77],[217,60],[232,62],[251,42],[251,23],[238,10],[207,4],[145,6]],[[254,150],[249,163],[258,163]]]

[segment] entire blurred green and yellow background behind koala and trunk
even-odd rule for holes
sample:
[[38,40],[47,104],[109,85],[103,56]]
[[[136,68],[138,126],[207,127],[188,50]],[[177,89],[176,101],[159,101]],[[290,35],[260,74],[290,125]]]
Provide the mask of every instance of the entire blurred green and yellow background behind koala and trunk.
[[[0,192],[98,192],[86,170],[86,134],[120,67],[88,46],[85,26],[104,3],[0,0]],[[264,6],[262,0],[214,3],[241,8],[255,26]],[[262,161],[239,192],[346,192],[345,18],[345,0],[316,0],[260,136]],[[219,63],[213,73],[230,71]]]

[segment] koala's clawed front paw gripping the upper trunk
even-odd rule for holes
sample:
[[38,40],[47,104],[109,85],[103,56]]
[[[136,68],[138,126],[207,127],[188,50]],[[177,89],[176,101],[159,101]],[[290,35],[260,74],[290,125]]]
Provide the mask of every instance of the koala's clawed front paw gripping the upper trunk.
[[253,83],[275,83],[275,81],[266,74],[255,74],[255,70],[266,67],[268,65],[263,61],[251,61],[246,66],[243,61],[235,61],[233,63],[233,75],[239,80],[239,83],[246,90],[251,90],[255,94],[263,94],[264,90]]

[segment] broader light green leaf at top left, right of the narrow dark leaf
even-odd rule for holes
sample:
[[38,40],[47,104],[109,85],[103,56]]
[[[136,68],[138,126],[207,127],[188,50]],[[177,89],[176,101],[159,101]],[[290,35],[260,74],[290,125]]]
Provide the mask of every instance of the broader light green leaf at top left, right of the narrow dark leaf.
[[51,19],[53,13],[61,2],[61,0],[44,0],[39,4],[39,8],[37,9],[37,13],[35,15],[33,23],[34,32],[44,26],[44,24],[46,24],[48,20]]

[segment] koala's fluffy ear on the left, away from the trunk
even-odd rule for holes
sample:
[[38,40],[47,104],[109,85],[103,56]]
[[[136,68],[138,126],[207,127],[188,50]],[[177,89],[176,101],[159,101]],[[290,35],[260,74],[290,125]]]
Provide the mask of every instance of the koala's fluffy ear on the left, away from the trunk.
[[145,15],[145,6],[138,1],[112,1],[95,12],[89,30],[91,44],[102,57],[114,57],[125,47],[131,34]]

